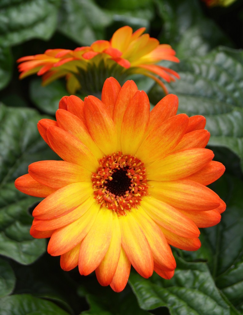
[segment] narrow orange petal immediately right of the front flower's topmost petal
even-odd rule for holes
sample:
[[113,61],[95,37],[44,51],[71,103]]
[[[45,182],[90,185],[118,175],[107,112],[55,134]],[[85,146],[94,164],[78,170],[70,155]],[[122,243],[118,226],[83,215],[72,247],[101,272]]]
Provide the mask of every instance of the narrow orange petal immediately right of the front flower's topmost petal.
[[115,108],[114,108],[114,113],[113,113],[113,120],[116,125],[118,135],[120,135],[120,132],[121,132],[121,125],[122,125],[124,113],[127,109],[127,106],[131,98],[135,95],[137,90],[138,88],[135,82],[130,80],[130,81],[126,81],[123,84],[120,90],[120,93],[118,94]]

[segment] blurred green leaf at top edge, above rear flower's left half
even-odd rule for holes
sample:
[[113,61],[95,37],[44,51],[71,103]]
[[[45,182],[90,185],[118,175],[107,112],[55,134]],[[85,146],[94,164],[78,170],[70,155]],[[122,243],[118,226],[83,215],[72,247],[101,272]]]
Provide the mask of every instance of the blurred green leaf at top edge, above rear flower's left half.
[[111,14],[100,9],[93,0],[64,0],[58,29],[75,42],[90,45],[104,39],[104,28],[111,22]]

